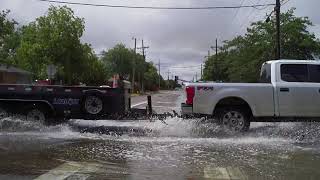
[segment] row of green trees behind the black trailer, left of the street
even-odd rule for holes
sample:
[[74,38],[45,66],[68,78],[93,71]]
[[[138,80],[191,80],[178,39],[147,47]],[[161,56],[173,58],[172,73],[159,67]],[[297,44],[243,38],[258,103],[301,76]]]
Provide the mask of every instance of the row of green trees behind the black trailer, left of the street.
[[52,64],[57,67],[55,79],[68,85],[102,85],[114,74],[131,81],[134,66],[138,89],[158,87],[155,66],[125,45],[117,44],[98,57],[90,44],[81,42],[84,19],[66,6],[50,6],[44,16],[23,26],[9,19],[9,13],[0,12],[1,64],[25,69],[34,79],[46,79]]

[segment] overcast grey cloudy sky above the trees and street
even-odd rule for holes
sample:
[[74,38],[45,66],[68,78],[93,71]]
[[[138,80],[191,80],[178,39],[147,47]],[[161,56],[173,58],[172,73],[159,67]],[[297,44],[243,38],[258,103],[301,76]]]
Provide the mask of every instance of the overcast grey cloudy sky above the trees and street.
[[[66,0],[70,2],[90,2],[111,5],[132,6],[235,6],[275,3],[275,0]],[[243,1],[243,2],[242,2]],[[58,5],[54,4],[53,5]],[[50,3],[37,0],[0,0],[0,9],[10,9],[10,17],[20,24],[34,21],[44,15]],[[147,61],[161,60],[161,74],[167,78],[167,71],[190,80],[195,74],[200,77],[200,64],[214,45],[243,34],[250,22],[265,19],[273,7],[263,10],[253,8],[218,10],[147,10],[89,7],[68,5],[77,16],[83,17],[86,29],[83,42],[92,45],[96,53],[124,43],[133,48],[132,37],[144,39]],[[297,16],[308,16],[315,24],[310,28],[320,37],[319,0],[290,0],[282,8],[296,7]],[[213,53],[213,51],[211,50]],[[181,68],[189,67],[190,68]]]

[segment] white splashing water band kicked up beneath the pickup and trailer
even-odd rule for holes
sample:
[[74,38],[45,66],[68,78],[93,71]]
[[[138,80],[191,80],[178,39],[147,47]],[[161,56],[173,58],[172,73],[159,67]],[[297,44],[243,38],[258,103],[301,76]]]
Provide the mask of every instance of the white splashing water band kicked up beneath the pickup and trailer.
[[[183,94],[183,93],[181,93]],[[176,101],[176,107],[184,100],[180,95]],[[179,111],[178,108],[174,109]],[[215,123],[203,123],[202,119],[181,119],[168,118],[167,124],[159,120],[150,122],[149,120],[140,121],[117,121],[117,120],[70,120],[69,123],[56,126],[44,126],[37,122],[26,121],[23,117],[9,117],[0,120],[1,133],[15,134],[39,134],[43,138],[89,138],[103,139],[113,138],[112,136],[101,135],[103,133],[96,131],[85,131],[80,133],[77,126],[84,127],[104,127],[102,130],[113,128],[115,131],[109,135],[129,135],[135,140],[177,140],[177,141],[195,141],[206,140],[214,142],[229,143],[264,143],[274,141],[286,141],[294,143],[317,144],[320,140],[320,123],[251,123],[249,132],[232,133],[224,130]],[[117,131],[123,131],[121,133]],[[132,133],[133,132],[133,133]],[[138,132],[138,133],[136,133]],[[144,136],[142,138],[141,136]],[[115,138],[117,140],[121,137]]]

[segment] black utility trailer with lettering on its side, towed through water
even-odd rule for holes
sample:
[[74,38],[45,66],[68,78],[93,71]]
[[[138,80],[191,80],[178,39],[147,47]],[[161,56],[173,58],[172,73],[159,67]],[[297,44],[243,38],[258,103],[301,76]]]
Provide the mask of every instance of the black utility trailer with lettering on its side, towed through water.
[[27,120],[102,119],[130,110],[130,83],[119,88],[57,85],[0,85],[0,116],[25,115]]

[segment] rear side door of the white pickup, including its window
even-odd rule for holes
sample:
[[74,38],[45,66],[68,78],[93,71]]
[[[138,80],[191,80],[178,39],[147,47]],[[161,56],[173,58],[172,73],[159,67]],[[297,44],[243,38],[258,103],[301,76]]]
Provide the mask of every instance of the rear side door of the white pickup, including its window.
[[312,117],[318,112],[315,88],[310,84],[307,64],[281,64],[281,81],[276,86],[282,117]]

